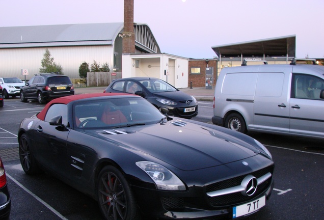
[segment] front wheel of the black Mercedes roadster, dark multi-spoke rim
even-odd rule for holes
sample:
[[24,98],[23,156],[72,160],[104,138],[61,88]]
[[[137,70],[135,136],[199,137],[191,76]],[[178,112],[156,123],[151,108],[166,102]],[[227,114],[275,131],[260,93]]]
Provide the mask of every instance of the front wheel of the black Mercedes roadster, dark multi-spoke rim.
[[106,166],[101,170],[97,192],[99,207],[105,219],[138,219],[138,209],[132,191],[117,168]]

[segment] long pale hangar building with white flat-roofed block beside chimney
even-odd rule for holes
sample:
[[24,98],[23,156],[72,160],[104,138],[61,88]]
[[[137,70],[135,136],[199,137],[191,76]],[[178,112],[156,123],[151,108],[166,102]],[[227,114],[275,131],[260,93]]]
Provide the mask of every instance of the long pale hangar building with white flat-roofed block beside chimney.
[[124,77],[150,76],[177,88],[188,85],[188,59],[161,53],[145,23],[134,23],[135,53],[123,54],[124,23],[0,27],[0,76],[31,78],[39,72],[46,48],[65,75],[79,78],[80,64],[108,63]]

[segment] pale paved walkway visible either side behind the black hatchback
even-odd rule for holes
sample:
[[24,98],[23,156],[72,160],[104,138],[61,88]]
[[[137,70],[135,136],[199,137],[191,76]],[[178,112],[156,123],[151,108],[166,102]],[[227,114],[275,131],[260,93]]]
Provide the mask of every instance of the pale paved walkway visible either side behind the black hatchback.
[[[86,94],[86,93],[103,93],[106,87],[79,87],[74,88],[75,94]],[[195,87],[195,88],[182,88],[180,91],[194,96],[199,101],[213,101],[214,98],[214,88],[206,89],[205,87]]]

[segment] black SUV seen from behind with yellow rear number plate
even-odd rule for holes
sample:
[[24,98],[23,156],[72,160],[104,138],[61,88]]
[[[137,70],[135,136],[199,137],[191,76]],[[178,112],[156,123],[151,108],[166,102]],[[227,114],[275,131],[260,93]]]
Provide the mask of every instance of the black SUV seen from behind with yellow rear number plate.
[[27,99],[37,99],[41,104],[69,95],[74,95],[70,78],[56,73],[36,74],[20,90],[22,102],[26,102]]

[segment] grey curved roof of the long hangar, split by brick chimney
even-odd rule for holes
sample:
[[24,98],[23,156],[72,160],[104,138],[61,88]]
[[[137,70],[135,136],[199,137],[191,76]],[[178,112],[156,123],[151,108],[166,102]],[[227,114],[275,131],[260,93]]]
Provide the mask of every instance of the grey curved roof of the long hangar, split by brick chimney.
[[[0,48],[112,45],[123,28],[123,22],[0,27]],[[160,52],[147,24],[134,23],[134,33],[137,47]]]

